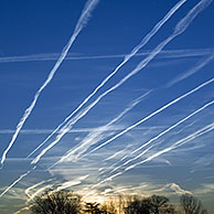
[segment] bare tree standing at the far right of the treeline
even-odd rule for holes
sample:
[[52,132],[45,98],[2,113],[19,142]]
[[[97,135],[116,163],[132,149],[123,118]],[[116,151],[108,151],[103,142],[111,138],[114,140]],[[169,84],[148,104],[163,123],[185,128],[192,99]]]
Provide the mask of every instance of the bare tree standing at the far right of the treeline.
[[202,202],[191,194],[183,194],[180,197],[180,203],[184,214],[207,214],[203,208]]

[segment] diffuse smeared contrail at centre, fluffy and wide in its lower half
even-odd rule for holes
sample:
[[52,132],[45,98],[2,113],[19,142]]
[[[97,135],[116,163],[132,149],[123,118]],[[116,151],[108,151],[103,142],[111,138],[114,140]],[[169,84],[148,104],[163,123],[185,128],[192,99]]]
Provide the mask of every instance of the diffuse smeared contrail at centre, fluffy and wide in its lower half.
[[138,97],[137,99],[135,99],[133,101],[130,103],[130,105],[122,111],[120,113],[116,118],[114,118],[113,120],[110,120],[107,125],[96,129],[95,131],[93,131],[92,133],[87,135],[85,137],[85,139],[83,140],[83,142],[77,146],[75,149],[72,148],[65,156],[63,156],[57,162],[55,162],[53,165],[51,165],[49,169],[52,169],[53,167],[55,167],[56,164],[58,164],[60,162],[64,161],[66,158],[73,156],[74,153],[76,153],[77,151],[78,154],[76,154],[76,157],[74,158],[75,160],[82,154],[84,153],[92,145],[95,145],[96,142],[98,142],[99,140],[104,139],[104,136],[101,136],[103,132],[105,132],[106,130],[110,130],[110,126],[115,122],[117,122],[119,119],[121,119],[128,111],[130,111],[135,106],[137,106],[140,101],[142,101],[142,99],[145,97],[147,97],[152,90],[148,90],[147,93],[145,93],[143,95],[141,95],[140,97]]

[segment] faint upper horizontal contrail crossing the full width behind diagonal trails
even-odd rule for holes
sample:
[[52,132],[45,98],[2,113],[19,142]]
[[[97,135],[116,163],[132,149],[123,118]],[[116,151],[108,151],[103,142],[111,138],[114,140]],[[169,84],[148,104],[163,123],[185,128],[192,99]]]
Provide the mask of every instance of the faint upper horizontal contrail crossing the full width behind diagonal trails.
[[[147,56],[151,50],[145,50],[137,53],[135,56]],[[192,56],[205,56],[213,54],[213,49],[194,49],[194,50],[165,50],[161,51],[159,58],[179,58],[179,57],[192,57]],[[19,63],[19,62],[39,62],[39,61],[55,61],[58,58],[58,53],[47,54],[34,54],[23,56],[4,56],[0,57],[0,63]],[[67,54],[65,61],[81,61],[81,60],[104,60],[104,58],[121,58],[127,54],[109,54],[109,55],[90,55],[90,56],[73,56]]]

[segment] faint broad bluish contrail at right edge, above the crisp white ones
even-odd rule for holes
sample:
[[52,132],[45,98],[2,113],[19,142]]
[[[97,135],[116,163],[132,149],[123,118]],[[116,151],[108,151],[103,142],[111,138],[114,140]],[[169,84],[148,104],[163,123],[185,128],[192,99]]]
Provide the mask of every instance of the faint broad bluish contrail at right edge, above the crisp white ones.
[[201,61],[197,65],[195,65],[192,69],[185,72],[182,75],[179,75],[178,77],[175,77],[174,79],[172,79],[169,84],[167,84],[167,87],[171,87],[172,85],[188,78],[189,76],[193,75],[194,73],[196,73],[197,71],[200,71],[202,67],[204,67],[205,65],[207,65],[210,62],[212,62],[214,60],[214,54],[210,55],[208,57],[204,58],[203,61]]

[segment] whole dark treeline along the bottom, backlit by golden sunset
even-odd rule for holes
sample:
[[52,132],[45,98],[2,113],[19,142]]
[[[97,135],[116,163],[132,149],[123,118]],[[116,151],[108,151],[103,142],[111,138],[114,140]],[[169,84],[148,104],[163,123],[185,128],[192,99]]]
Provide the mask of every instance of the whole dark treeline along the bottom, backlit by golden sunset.
[[173,205],[164,195],[119,195],[106,202],[84,202],[69,191],[45,191],[31,203],[32,214],[207,214],[202,202],[191,194]]

